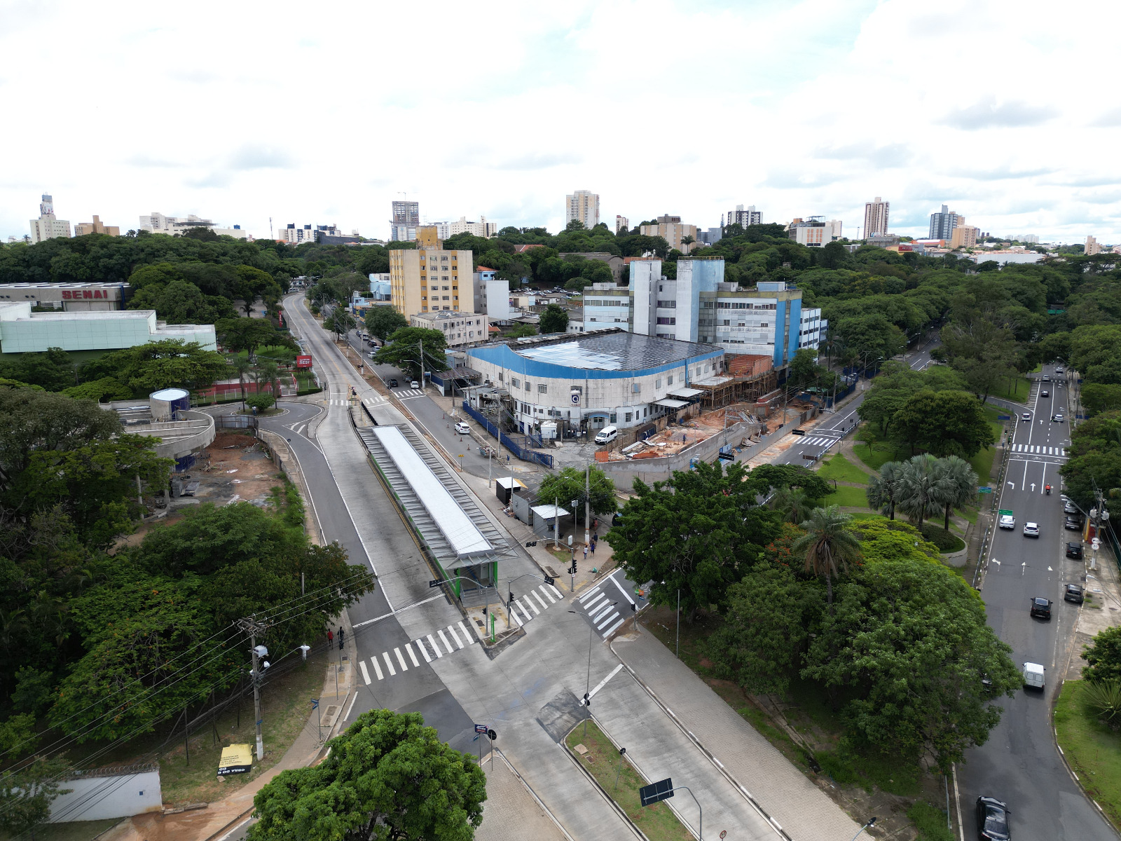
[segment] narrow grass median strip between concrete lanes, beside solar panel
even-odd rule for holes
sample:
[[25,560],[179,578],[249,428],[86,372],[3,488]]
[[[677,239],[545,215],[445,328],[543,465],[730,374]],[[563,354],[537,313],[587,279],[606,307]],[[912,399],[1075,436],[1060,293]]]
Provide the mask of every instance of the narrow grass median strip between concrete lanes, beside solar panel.
[[[634,770],[634,766],[619,756],[619,750],[595,722],[587,723],[587,736],[584,736],[583,726],[577,727],[565,739],[565,743],[650,841],[688,841],[693,838],[665,801],[652,806],[639,805],[638,789],[647,785],[647,780]],[[587,752],[576,750],[577,745],[587,748]],[[696,813],[692,797],[678,800],[675,805],[686,812],[692,808],[693,814]]]

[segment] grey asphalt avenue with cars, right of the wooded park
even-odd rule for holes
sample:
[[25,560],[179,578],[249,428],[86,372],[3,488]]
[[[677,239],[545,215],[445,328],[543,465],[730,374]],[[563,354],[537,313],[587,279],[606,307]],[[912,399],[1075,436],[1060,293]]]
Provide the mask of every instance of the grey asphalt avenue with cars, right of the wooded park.
[[[1074,644],[1078,606],[1063,601],[1067,582],[1085,574],[1084,562],[1064,557],[1063,545],[1078,539],[1063,529],[1063,500],[1058,495],[1058,470],[1069,444],[1067,420],[1053,423],[1051,415],[1067,410],[1066,388],[1056,382],[1053,366],[1044,373],[1051,382],[1038,382],[1028,400],[1030,422],[1018,422],[1012,454],[1000,493],[999,508],[1011,509],[1016,528],[993,536],[984,571],[982,594],[989,625],[1012,647],[1012,659],[1041,663],[1046,672],[1043,694],[1018,692],[1001,699],[1004,714],[989,741],[966,754],[957,767],[958,804],[971,825],[978,796],[993,796],[1012,811],[1012,835],[1017,841],[1115,841],[1117,834],[1071,778],[1055,748],[1050,706],[1062,685]],[[1046,386],[1048,397],[1039,396]],[[1050,496],[1044,486],[1054,488]],[[1022,534],[1023,524],[1039,524],[1039,538]],[[1088,553],[1087,553],[1088,554]],[[1028,600],[1051,599],[1053,618],[1032,619]]]

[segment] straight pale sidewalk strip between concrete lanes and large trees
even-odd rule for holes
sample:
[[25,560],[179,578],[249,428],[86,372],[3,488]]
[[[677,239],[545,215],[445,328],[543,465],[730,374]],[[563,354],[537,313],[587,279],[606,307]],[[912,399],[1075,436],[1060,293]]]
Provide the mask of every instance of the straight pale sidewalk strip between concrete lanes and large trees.
[[611,649],[789,838],[849,839],[860,829],[641,626],[618,637]]

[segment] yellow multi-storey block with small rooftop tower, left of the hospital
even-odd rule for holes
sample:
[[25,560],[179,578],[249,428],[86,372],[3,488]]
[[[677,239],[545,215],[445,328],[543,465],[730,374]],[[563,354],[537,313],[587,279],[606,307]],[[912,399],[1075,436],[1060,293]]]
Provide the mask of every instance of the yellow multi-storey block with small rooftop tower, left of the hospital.
[[[474,308],[471,251],[450,251],[436,238],[435,225],[417,229],[415,249],[389,252],[390,301],[401,315]],[[460,306],[460,275],[463,306]]]

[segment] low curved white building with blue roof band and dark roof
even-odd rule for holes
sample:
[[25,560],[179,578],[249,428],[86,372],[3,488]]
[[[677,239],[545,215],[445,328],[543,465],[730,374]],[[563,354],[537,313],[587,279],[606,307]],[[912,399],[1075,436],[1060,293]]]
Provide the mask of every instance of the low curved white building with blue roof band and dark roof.
[[688,405],[689,383],[724,371],[724,349],[629,333],[544,335],[466,351],[483,385],[513,398],[518,426],[626,429]]

